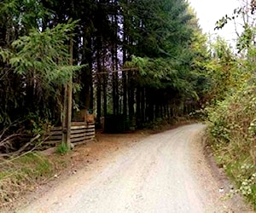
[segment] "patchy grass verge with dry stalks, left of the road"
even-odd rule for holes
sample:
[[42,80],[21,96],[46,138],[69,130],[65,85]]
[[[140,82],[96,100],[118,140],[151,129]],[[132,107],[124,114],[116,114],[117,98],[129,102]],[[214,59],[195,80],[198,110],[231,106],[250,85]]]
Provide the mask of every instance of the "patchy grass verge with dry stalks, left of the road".
[[61,158],[48,158],[40,153],[26,153],[17,158],[0,159],[0,210],[32,192],[65,168]]

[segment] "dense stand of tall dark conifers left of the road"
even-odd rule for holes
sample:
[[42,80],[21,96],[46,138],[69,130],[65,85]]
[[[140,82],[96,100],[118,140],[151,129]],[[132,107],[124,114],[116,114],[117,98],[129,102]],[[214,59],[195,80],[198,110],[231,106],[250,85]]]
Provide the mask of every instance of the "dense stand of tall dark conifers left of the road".
[[206,40],[185,1],[8,0],[0,8],[1,130],[60,124],[70,78],[73,115],[90,109],[98,123],[136,116],[140,127],[201,105],[207,79],[195,57],[207,57]]

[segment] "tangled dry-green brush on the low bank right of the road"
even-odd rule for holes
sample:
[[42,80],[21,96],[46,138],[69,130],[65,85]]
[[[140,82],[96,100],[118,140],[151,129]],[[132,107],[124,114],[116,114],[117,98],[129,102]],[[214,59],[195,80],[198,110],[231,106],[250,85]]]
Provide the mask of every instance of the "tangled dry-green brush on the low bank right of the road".
[[208,108],[209,141],[217,162],[256,209],[256,87],[247,86]]

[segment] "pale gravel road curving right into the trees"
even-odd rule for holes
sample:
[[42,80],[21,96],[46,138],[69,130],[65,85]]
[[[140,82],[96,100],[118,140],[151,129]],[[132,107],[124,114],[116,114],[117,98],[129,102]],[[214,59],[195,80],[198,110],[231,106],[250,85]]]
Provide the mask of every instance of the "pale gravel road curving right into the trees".
[[191,124],[150,135],[17,212],[248,212],[223,200],[222,183],[203,154],[204,128]]

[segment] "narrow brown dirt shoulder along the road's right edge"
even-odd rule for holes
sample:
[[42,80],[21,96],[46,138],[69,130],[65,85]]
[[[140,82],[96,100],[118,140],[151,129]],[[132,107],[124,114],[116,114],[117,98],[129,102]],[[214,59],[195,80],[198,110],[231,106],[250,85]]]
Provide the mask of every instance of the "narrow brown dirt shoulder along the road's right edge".
[[[215,162],[212,149],[207,146],[205,130],[195,136],[195,143],[191,146],[194,164],[191,166],[201,177],[201,184],[208,194],[215,194],[215,198],[222,200],[226,210],[221,212],[254,212],[253,207],[239,193],[230,193],[236,188],[226,176],[223,168]],[[197,139],[196,139],[197,138]],[[212,180],[212,181],[211,181]],[[212,187],[214,186],[214,187]],[[214,189],[214,191],[212,190]]]

